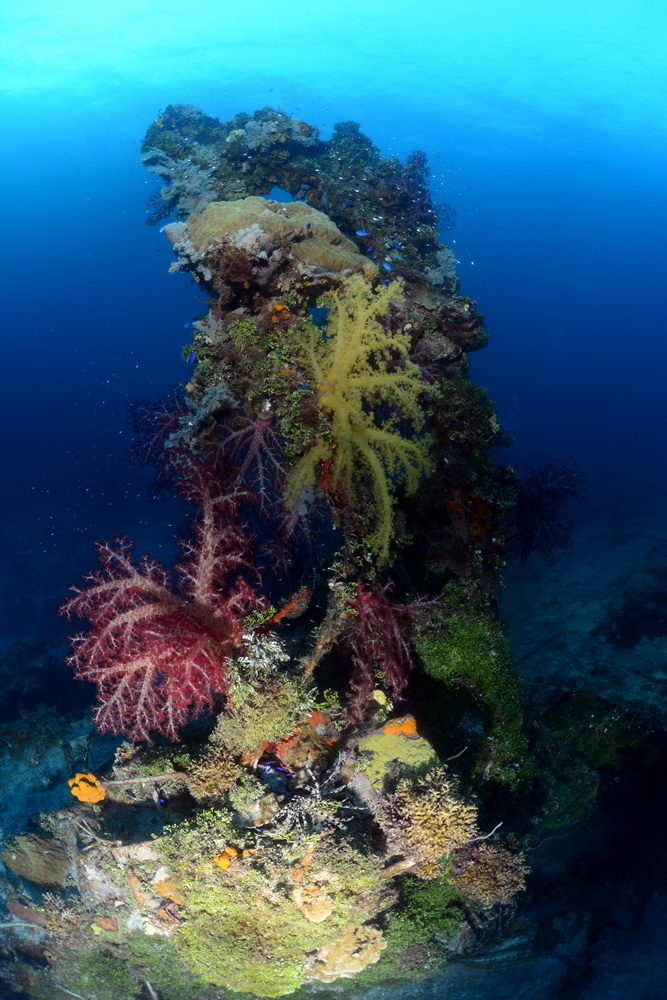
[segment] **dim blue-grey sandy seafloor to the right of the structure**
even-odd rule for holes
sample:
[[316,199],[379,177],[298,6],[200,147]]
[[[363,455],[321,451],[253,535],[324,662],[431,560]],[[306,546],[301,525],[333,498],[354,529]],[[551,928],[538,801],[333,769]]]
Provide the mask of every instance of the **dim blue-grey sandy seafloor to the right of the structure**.
[[663,505],[656,502],[634,522],[581,523],[572,541],[553,567],[533,555],[506,571],[502,618],[527,700],[541,707],[584,686],[664,721],[667,635],[640,637],[626,649],[605,638],[610,615],[629,598],[648,613],[667,595]]

